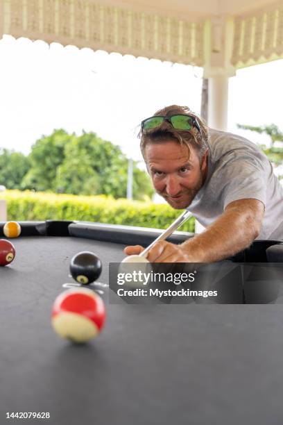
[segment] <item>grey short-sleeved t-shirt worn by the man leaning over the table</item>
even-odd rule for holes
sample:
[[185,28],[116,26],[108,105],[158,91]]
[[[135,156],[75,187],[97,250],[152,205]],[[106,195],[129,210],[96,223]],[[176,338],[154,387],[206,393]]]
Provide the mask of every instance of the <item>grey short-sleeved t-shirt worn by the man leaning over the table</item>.
[[283,188],[268,158],[249,140],[212,128],[208,145],[207,178],[187,210],[206,227],[232,201],[258,199],[265,213],[257,239],[283,240]]

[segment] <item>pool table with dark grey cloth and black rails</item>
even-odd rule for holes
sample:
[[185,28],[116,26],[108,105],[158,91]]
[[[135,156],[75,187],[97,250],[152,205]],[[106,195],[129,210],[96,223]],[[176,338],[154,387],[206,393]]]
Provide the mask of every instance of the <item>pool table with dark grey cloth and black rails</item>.
[[[122,260],[126,244],[146,246],[158,231],[87,222],[21,225],[22,234],[11,240],[15,260],[0,267],[0,424],[283,422],[280,297],[265,305],[244,305],[244,297],[227,305],[109,303],[108,264]],[[170,240],[191,236],[176,232]],[[266,263],[275,247],[280,267],[279,242],[255,242],[230,260]],[[76,285],[69,260],[84,250],[103,263],[89,287],[104,299],[107,318],[101,335],[76,345],[54,333],[50,316],[55,297]],[[7,412],[49,412],[50,419],[6,419]]]

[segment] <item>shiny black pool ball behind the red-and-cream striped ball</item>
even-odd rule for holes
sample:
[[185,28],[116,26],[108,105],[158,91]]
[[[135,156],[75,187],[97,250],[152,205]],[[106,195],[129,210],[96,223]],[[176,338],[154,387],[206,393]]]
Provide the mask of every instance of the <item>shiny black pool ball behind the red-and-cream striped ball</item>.
[[88,285],[101,275],[102,264],[93,252],[83,251],[77,253],[70,263],[71,276],[78,283]]

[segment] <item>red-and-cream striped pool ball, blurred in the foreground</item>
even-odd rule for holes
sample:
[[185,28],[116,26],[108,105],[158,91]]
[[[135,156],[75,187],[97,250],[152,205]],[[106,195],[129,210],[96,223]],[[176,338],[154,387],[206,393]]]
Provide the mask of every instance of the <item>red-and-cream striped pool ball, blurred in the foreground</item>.
[[62,338],[87,342],[105,322],[103,299],[87,288],[72,288],[58,295],[52,308],[52,325]]

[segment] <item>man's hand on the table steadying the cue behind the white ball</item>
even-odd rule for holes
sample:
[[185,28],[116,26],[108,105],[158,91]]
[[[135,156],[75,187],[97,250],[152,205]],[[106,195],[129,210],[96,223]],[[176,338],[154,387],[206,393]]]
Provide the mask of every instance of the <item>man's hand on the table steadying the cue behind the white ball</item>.
[[[138,255],[144,251],[140,245],[133,247],[126,247],[124,252],[128,256]],[[193,253],[187,252],[182,245],[171,244],[165,240],[156,242],[151,250],[148,252],[147,260],[151,263],[194,263],[197,262]]]

